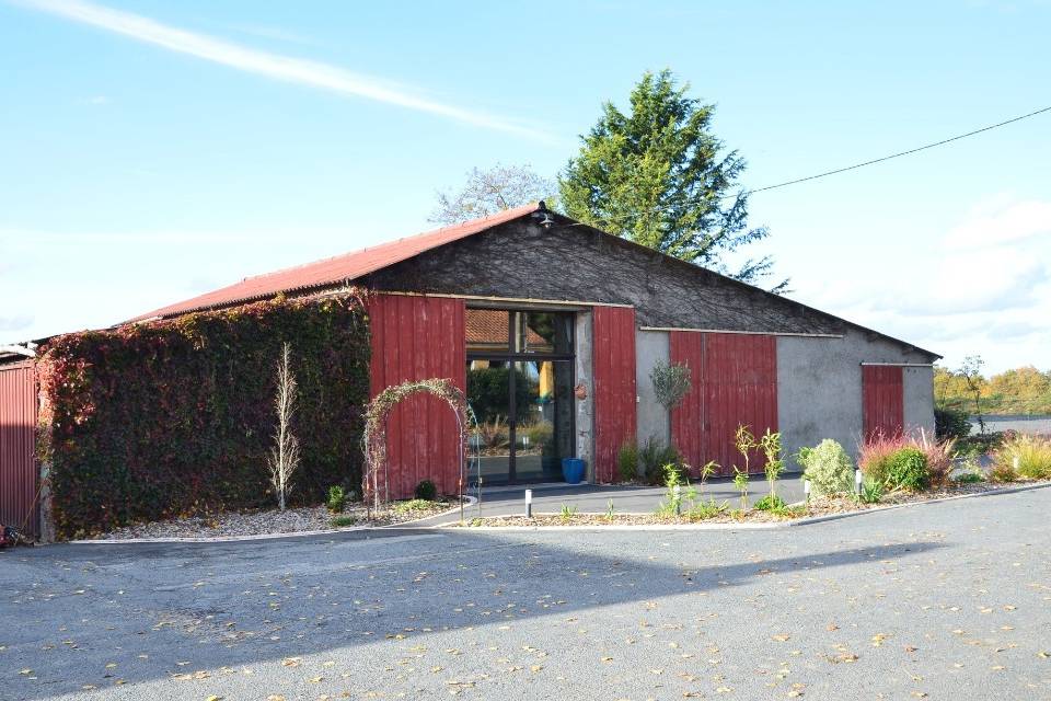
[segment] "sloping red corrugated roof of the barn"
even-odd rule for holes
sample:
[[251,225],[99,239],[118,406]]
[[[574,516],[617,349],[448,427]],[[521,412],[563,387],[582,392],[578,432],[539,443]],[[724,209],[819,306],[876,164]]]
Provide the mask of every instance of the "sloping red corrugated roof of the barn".
[[246,277],[240,283],[206,292],[168,307],[155,309],[129,321],[143,321],[158,317],[175,317],[201,309],[212,309],[229,304],[240,304],[258,299],[273,297],[278,292],[292,292],[315,287],[338,285],[346,280],[359,278],[369,273],[400,263],[425,251],[436,249],[446,243],[459,241],[486,229],[518,219],[540,209],[539,203],[508,209],[500,214],[465,221],[454,227],[446,227],[427,233],[420,233],[406,239],[399,239],[390,243],[381,243],[370,249],[362,249],[354,253],[345,253],[335,257],[315,261],[305,265],[285,268],[265,275]]

